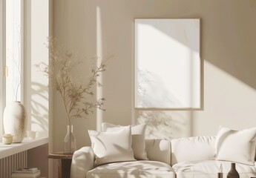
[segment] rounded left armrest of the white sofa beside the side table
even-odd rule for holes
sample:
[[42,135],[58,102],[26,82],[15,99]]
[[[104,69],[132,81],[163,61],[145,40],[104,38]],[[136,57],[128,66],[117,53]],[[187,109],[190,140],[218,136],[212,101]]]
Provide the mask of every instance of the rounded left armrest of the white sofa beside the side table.
[[93,148],[83,147],[73,153],[70,168],[70,178],[85,178],[88,171],[93,169]]

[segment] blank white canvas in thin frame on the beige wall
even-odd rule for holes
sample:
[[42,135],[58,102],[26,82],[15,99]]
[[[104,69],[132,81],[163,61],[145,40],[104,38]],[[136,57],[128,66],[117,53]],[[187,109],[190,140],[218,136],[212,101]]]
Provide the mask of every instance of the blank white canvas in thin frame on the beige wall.
[[200,109],[200,19],[135,19],[135,108]]

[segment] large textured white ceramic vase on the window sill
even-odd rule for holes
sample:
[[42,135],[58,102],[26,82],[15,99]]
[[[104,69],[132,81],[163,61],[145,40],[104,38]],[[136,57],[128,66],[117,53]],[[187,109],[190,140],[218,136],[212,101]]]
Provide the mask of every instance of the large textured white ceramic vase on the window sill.
[[4,133],[13,135],[13,142],[22,142],[27,129],[27,116],[21,102],[10,102],[4,108]]

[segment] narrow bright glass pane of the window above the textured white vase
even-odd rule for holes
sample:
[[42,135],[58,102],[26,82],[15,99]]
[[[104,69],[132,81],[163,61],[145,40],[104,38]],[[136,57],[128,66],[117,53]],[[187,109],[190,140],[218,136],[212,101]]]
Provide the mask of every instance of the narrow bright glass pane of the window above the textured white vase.
[[[15,2],[14,2],[15,1]],[[22,1],[6,1],[6,102],[22,101]]]

